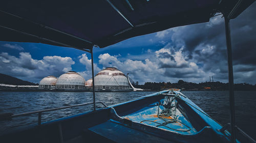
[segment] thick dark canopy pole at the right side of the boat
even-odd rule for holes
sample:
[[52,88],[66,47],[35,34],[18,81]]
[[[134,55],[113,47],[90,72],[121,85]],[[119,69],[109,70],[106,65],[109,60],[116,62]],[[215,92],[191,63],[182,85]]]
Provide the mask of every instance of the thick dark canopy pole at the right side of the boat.
[[234,81],[233,81],[233,65],[232,65],[232,49],[230,38],[229,19],[225,18],[226,43],[227,43],[227,62],[228,62],[228,87],[229,87],[229,106],[230,106],[230,125],[231,125],[231,142],[236,142],[235,121],[234,121]]

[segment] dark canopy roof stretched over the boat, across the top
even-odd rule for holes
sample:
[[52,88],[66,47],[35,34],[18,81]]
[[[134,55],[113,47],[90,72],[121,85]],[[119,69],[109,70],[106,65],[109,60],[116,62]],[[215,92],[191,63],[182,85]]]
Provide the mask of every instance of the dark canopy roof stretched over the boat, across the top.
[[0,41],[35,42],[77,49],[202,23],[217,12],[237,17],[254,0],[8,0],[0,5]]

